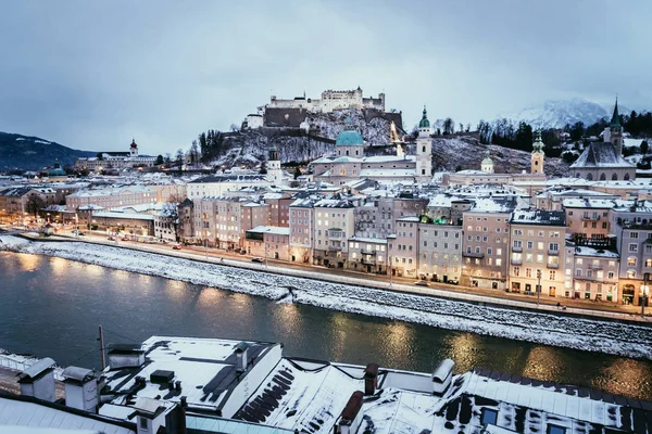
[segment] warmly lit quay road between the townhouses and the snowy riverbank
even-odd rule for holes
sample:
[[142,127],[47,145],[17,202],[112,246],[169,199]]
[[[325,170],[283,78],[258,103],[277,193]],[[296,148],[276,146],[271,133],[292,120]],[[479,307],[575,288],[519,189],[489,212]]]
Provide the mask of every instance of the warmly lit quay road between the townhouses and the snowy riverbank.
[[[13,231],[15,232],[15,230]],[[60,232],[57,235],[49,237],[50,241],[80,241],[86,243],[111,245],[123,248],[131,248],[143,252],[163,254],[167,256],[180,257],[192,260],[200,260],[220,265],[228,265],[252,270],[274,272],[308,279],[321,279],[330,282],[353,284],[361,286],[371,286],[397,292],[414,293],[419,295],[429,295],[452,299],[466,301],[475,304],[498,305],[517,309],[540,310],[554,312],[557,315],[580,315],[601,319],[615,319],[623,321],[634,321],[641,324],[652,326],[652,307],[645,310],[645,316],[640,315],[639,306],[626,306],[609,302],[592,302],[573,298],[557,298],[542,296],[537,303],[537,297],[531,295],[507,293],[504,291],[486,290],[472,286],[453,285],[446,283],[432,283],[430,286],[414,285],[415,279],[392,278],[391,282],[388,276],[363,273],[337,268],[326,268],[298,263],[287,263],[267,258],[266,263],[252,263],[250,255],[226,252],[216,248],[205,248],[201,246],[183,246],[181,250],[173,250],[172,244],[163,243],[142,243],[135,241],[122,241],[116,239],[109,240],[109,237],[100,231],[83,231],[85,235],[77,237],[71,231]],[[2,232],[0,232],[2,233]],[[25,233],[27,234],[27,233]],[[29,237],[37,240],[43,240],[38,237]],[[564,309],[556,306],[562,303]]]

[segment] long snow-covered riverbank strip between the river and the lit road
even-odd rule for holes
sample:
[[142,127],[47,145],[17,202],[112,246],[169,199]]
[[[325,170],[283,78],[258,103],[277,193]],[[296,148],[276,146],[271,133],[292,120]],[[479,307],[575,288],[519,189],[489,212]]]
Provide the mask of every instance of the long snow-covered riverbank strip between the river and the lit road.
[[[0,250],[57,256],[273,299],[423,323],[450,330],[652,359],[647,327],[478,306],[75,242],[0,237]],[[292,296],[289,297],[290,290]]]

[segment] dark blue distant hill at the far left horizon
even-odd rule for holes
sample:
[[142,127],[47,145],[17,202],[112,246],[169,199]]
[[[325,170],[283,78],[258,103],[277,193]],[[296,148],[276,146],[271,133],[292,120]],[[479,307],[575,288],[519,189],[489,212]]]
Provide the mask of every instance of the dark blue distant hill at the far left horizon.
[[55,159],[64,167],[73,165],[77,157],[96,155],[97,152],[73,150],[38,137],[0,131],[0,170],[36,170],[52,166]]

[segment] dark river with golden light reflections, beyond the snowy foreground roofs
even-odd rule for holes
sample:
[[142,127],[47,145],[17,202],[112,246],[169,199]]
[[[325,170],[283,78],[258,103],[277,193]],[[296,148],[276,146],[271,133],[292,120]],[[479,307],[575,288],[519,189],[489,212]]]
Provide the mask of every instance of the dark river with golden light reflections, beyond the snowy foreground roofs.
[[0,347],[64,367],[99,367],[102,324],[109,344],[154,334],[271,341],[290,356],[423,372],[450,357],[457,372],[488,368],[652,400],[649,360],[276,303],[57,257],[0,252]]

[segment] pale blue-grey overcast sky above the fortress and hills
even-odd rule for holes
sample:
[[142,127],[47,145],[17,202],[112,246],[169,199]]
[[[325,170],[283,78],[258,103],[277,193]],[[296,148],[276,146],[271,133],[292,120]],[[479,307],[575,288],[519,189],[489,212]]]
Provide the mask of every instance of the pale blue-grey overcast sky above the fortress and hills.
[[269,101],[386,93],[408,127],[580,97],[652,108],[652,3],[0,0],[0,131],[187,149]]

